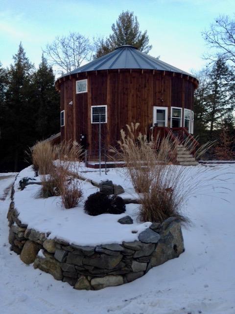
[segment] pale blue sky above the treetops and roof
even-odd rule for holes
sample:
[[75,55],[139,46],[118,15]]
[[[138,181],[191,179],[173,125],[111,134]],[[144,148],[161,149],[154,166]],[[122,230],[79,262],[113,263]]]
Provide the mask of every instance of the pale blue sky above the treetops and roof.
[[0,0],[0,62],[8,66],[20,41],[38,66],[56,35],[108,36],[121,11],[134,11],[147,29],[152,56],[182,70],[199,70],[207,47],[201,31],[220,14],[234,17],[234,0]]

